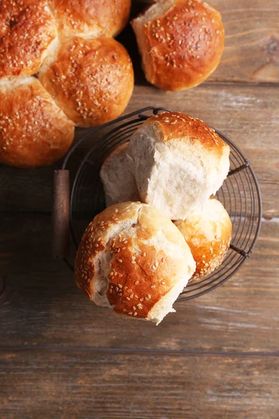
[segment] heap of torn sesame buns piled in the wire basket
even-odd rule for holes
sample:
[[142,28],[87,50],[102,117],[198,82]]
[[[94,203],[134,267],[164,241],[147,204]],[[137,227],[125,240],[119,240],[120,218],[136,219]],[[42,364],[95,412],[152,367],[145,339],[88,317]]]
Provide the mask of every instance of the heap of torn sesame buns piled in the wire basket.
[[137,128],[100,169],[107,209],[77,251],[77,285],[117,314],[160,323],[188,281],[223,262],[232,222],[213,198],[229,146],[209,126],[163,112]]

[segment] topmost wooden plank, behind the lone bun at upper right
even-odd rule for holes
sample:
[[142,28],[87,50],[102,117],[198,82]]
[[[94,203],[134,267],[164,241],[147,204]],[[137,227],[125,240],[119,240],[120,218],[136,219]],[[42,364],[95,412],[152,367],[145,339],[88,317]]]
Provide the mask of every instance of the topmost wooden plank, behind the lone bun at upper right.
[[[132,17],[153,3],[133,2]],[[225,50],[220,65],[206,80],[216,82],[279,82],[279,8],[274,0],[210,0],[223,16]],[[119,36],[128,49],[135,67],[135,82],[146,83],[140,68],[140,55],[130,25]]]

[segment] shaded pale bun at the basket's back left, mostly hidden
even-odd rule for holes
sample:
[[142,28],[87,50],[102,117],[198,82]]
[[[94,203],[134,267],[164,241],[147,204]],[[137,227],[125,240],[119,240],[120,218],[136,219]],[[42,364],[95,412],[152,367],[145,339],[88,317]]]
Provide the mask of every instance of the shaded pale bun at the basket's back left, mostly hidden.
[[128,142],[116,147],[105,159],[100,178],[105,189],[107,207],[127,201],[139,201],[140,196],[127,156]]

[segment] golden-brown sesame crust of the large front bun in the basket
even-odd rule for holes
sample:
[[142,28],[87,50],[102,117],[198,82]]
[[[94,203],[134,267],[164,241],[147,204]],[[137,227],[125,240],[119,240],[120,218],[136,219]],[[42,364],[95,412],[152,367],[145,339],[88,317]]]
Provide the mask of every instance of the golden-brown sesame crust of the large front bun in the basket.
[[[107,230],[130,219],[135,219],[132,226],[136,230],[135,236],[123,230],[107,242]],[[154,244],[143,242],[151,240],[163,228],[167,240],[181,246],[187,254],[186,242],[173,227],[169,219],[149,205],[121,203],[108,207],[93,219],[82,237],[75,263],[77,285],[89,299],[94,300],[93,260],[108,245],[114,258],[107,272],[107,300],[119,314],[147,318],[152,307],[188,269],[187,260],[183,265],[181,259],[156,249]]]

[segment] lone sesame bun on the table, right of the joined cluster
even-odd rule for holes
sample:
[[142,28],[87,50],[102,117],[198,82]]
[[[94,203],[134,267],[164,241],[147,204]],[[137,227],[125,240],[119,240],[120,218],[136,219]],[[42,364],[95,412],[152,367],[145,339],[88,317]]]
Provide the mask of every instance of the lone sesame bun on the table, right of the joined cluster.
[[203,82],[223,53],[221,15],[204,1],[159,0],[132,22],[146,79],[160,89]]

